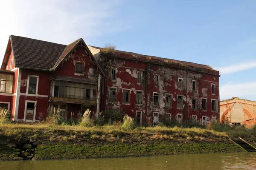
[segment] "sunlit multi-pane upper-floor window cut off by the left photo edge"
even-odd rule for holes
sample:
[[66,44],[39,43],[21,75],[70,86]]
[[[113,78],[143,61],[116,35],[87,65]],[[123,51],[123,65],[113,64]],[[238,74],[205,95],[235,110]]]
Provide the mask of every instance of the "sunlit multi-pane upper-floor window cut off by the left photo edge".
[[0,74],[0,93],[12,93],[13,75]]

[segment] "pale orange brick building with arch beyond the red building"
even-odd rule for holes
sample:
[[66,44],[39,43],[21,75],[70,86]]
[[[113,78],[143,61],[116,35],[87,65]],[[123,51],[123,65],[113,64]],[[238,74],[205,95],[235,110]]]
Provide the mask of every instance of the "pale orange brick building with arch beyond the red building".
[[256,102],[233,97],[220,102],[221,122],[251,127],[256,122]]

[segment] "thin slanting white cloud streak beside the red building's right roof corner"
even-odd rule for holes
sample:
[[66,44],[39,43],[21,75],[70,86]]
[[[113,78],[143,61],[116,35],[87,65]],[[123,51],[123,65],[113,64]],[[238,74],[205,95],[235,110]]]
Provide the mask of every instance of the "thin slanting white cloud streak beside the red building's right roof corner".
[[225,74],[232,74],[239,71],[249,70],[251,68],[256,68],[256,61],[242,62],[236,65],[229,65],[226,67],[221,67],[218,70],[221,72],[221,75],[225,75]]

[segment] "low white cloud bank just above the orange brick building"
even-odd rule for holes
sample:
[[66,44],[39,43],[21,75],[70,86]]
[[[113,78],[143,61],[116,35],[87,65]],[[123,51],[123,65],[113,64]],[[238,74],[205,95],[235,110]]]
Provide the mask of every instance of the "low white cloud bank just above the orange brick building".
[[256,101],[256,82],[228,82],[220,86],[220,99],[239,97]]

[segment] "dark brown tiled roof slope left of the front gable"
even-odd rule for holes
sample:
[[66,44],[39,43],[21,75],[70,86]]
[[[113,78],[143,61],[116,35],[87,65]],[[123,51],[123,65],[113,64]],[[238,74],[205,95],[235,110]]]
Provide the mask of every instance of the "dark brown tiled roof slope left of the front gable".
[[10,36],[16,67],[49,70],[53,68],[67,45]]

